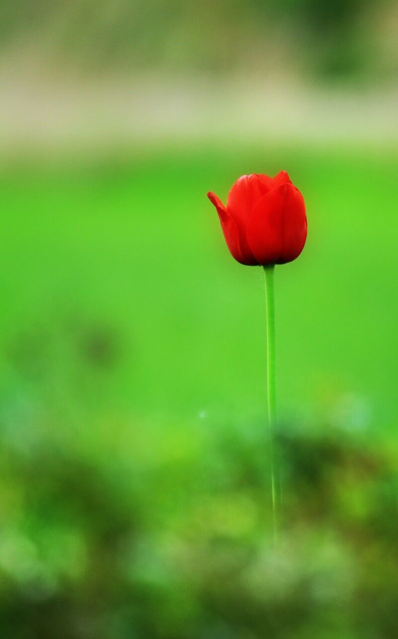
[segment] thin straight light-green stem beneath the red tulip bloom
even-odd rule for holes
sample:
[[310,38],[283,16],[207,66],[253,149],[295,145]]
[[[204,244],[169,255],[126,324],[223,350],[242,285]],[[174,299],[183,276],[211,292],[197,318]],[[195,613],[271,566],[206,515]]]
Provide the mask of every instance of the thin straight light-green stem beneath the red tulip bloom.
[[267,341],[268,427],[270,429],[270,468],[272,494],[273,541],[277,543],[277,489],[275,485],[273,437],[277,420],[277,385],[275,376],[275,265],[264,266]]

